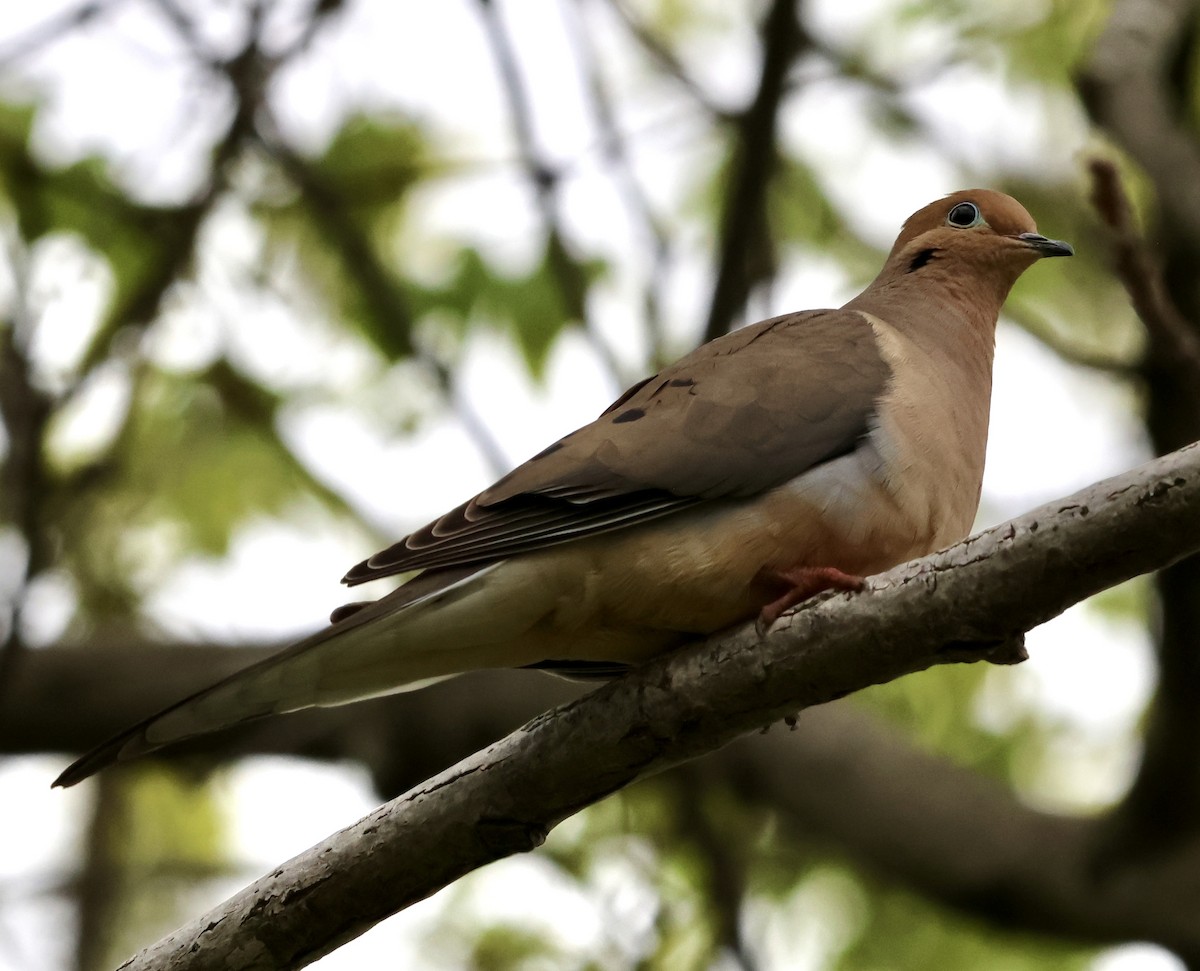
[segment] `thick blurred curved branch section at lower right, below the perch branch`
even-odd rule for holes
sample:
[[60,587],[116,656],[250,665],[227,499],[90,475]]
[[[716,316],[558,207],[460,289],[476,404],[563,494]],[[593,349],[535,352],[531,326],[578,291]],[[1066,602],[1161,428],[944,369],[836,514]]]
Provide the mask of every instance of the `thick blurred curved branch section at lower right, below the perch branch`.
[[832,840],[865,869],[972,917],[1200,953],[1200,841],[1105,868],[1104,820],[1031,809],[844,705],[805,712],[796,732],[740,739],[721,761],[738,766],[742,795],[772,805],[798,837]]

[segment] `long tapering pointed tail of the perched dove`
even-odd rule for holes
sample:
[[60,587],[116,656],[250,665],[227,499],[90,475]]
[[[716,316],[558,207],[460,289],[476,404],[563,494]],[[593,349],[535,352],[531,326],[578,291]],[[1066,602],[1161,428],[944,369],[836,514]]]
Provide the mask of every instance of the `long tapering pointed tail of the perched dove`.
[[[368,625],[400,611],[438,604],[445,595],[491,569],[469,567],[421,574],[388,597],[344,616],[332,627],[126,729],[67,766],[53,785],[72,786],[113,762],[134,759],[185,738],[264,715],[343,705],[454,677],[457,671],[414,672],[406,681],[402,673],[404,652],[395,649],[391,643],[395,636],[392,625],[385,625],[386,629]],[[370,667],[361,673],[355,671],[355,645],[373,649],[376,654],[386,651],[390,655],[386,676],[390,681],[372,682]],[[320,647],[328,649],[316,651]]]

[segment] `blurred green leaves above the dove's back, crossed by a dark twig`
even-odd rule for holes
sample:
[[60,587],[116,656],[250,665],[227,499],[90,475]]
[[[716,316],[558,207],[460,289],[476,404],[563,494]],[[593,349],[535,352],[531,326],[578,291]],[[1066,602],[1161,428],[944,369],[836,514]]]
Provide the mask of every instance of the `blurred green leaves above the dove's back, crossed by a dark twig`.
[[[292,160],[286,168],[295,188],[270,193],[256,206],[276,258],[287,247],[316,290],[337,301],[329,312],[388,360],[415,353],[415,322],[434,320],[460,338],[486,322],[515,340],[538,376],[554,338],[580,323],[563,293],[552,240],[523,274],[497,268],[474,246],[440,240],[433,248],[442,280],[422,283],[400,275],[414,234],[412,197],[448,173],[416,122],[352,118],[323,155]],[[304,174],[295,178],[298,172]],[[602,268],[599,259],[578,266],[584,283]]]

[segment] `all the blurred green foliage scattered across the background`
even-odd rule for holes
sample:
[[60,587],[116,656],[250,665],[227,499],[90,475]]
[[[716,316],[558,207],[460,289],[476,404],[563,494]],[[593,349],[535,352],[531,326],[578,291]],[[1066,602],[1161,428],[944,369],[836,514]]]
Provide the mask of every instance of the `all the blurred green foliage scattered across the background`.
[[[726,43],[744,47],[764,8],[761,2],[715,0],[628,6],[678,62],[664,66],[660,61],[667,59],[648,56],[646,65],[638,64],[656,65],[664,74],[694,71],[688,80],[702,89],[704,58]],[[872,136],[900,151],[926,133],[901,83],[888,79],[894,65],[882,64],[878,52],[926,49],[928,61],[908,65],[918,80],[964,62],[998,66],[1014,90],[1036,91],[1033,104],[1069,112],[1062,104],[1075,104],[1070,73],[1106,12],[1103,0],[906,0],[882,5],[871,30],[847,44],[850,53],[806,56],[820,55],[834,73],[822,83],[852,82],[865,92],[863,112]],[[808,26],[816,32],[816,25]],[[931,46],[930,36],[936,41]],[[745,53],[742,47],[738,52]],[[799,72],[792,79],[797,89],[804,83]],[[232,94],[244,96],[241,90]],[[227,169],[209,172],[175,205],[139,202],[137,187],[121,185],[98,155],[64,166],[46,162],[35,148],[38,110],[43,108],[28,101],[0,102],[0,222],[13,251],[40,271],[54,269],[38,264],[40,241],[70,235],[102,260],[109,281],[97,318],[72,319],[67,328],[86,340],[47,424],[47,478],[38,497],[54,568],[68,576],[76,598],[74,630],[143,622],[145,598],[156,583],[188,558],[227,555],[239,531],[258,519],[287,519],[313,503],[330,517],[360,525],[365,519],[292,450],[280,432],[280,414],[290,403],[287,391],[240,367],[226,335],[202,364],[168,365],[152,349],[150,337],[172,319],[172,300],[203,305],[209,290],[228,298],[221,289],[228,281],[218,274],[205,277],[202,269],[202,256],[221,245],[214,240],[221,239],[216,214],[222,197],[248,214],[245,234],[262,244],[260,251],[250,247],[250,287],[258,288],[253,296],[300,294],[316,316],[337,322],[341,338],[377,360],[382,371],[403,378],[420,368],[448,402],[455,396],[455,368],[476,330],[506,335],[538,379],[557,342],[584,323],[592,289],[620,275],[622,268],[598,247],[556,227],[538,227],[532,239],[522,239],[520,251],[527,256],[516,266],[500,263],[478,238],[431,227],[422,193],[452,186],[472,167],[451,162],[463,146],[448,144],[428,119],[396,108],[354,107],[326,144],[310,154],[290,149],[264,125],[265,133],[227,154],[234,160]],[[703,133],[686,145],[694,162],[686,176],[690,191],[680,193],[673,209],[655,215],[698,264],[707,256],[695,246],[686,250],[686,241],[697,236],[707,246],[718,232],[732,128],[726,118],[701,116],[695,104],[678,113],[689,122],[700,118]],[[780,150],[768,187],[770,256],[784,271],[823,259],[847,280],[869,276],[882,254],[860,238],[827,191],[836,173]],[[212,155],[215,164],[217,152]],[[976,181],[961,160],[943,161],[964,184]],[[1038,214],[1044,232],[1075,241],[1080,251],[1080,258],[1056,272],[1021,281],[1010,302],[1018,322],[1081,355],[1133,360],[1140,331],[1104,263],[1103,232],[1076,187],[1039,182],[1028,173],[994,178],[989,172],[986,178],[1018,194]],[[1135,175],[1132,181],[1145,209],[1148,193]],[[695,286],[686,268],[683,276],[686,287]],[[662,282],[650,281],[648,288]],[[72,281],[59,284],[70,289]],[[4,325],[17,328],[19,314],[10,310],[7,316]],[[636,310],[629,316],[641,319]],[[36,317],[30,323],[35,329],[62,326],[49,316]],[[696,322],[685,323],[688,332],[697,332]],[[239,319],[238,325],[251,329],[256,322]],[[20,336],[26,346],[35,343],[34,335]],[[48,342],[56,340],[52,334]],[[661,350],[653,343],[647,341],[647,360]],[[277,348],[281,355],[287,350]],[[40,362],[32,366],[36,371]],[[61,444],[60,438],[70,438],[62,426],[71,408],[88,400],[98,372],[113,377],[125,395],[110,433],[82,450]],[[53,384],[46,373],[34,377]],[[347,397],[355,394],[370,402],[379,392],[346,391]],[[404,484],[396,485],[398,491]],[[1109,592],[1094,609],[1112,619],[1141,622],[1146,600],[1145,585],[1136,583]],[[984,726],[977,709],[988,677],[982,665],[940,667],[863,693],[858,702],[898,731],[902,726],[928,750],[1013,783],[1044,756],[1049,732],[1019,706],[1003,731]],[[175,871],[221,869],[223,827],[200,787],[185,787],[155,769],[121,780],[120,804],[100,850],[125,870],[114,889],[126,915],[116,921],[114,941],[125,947],[143,943],[148,924],[169,923],[163,912],[173,894],[162,888],[184,880]],[[768,924],[799,928],[798,934],[824,934],[820,966],[830,971],[1049,971],[1082,967],[1090,959],[1086,948],[983,928],[864,875],[734,792],[679,785],[658,779],[613,797],[564,826],[544,851],[563,880],[594,897],[602,897],[598,887],[613,867],[644,891],[653,903],[643,915],[648,930],[635,942],[642,948],[635,958],[618,947],[601,955],[570,954],[560,941],[530,927],[449,907],[431,935],[440,954],[431,960],[479,971],[724,967],[730,924],[749,911],[767,913]],[[148,877],[155,868],[163,873]],[[721,899],[730,874],[748,888],[732,917]],[[820,921],[828,927],[817,927]],[[619,921],[612,924],[607,933],[619,937],[625,929]],[[794,942],[794,934],[784,936]],[[746,949],[754,953],[757,946],[751,940]],[[779,966],[788,966],[786,955]]]

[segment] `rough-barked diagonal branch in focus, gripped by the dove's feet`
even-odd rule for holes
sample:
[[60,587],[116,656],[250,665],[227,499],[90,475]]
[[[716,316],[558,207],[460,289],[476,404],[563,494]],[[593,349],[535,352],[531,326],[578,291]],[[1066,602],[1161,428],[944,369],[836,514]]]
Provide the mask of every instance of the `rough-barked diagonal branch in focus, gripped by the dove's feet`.
[[[122,969],[304,966],[463,874],[534,849],[636,779],[869,684],[986,658],[1198,549],[1192,445],[883,574],[868,595],[815,601],[764,639],[739,628],[659,658],[334,834]],[[1181,909],[1142,936],[1196,953],[1195,881],[1171,863],[1162,873]]]

